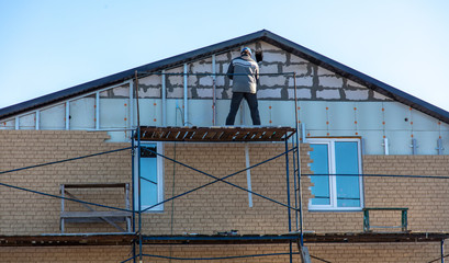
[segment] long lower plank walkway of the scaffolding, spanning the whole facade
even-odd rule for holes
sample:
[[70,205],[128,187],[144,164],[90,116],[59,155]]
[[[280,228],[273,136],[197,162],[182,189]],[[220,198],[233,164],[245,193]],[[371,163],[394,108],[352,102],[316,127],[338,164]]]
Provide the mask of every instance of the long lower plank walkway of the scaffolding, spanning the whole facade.
[[[47,233],[37,236],[0,236],[0,247],[57,245],[130,245],[137,233]],[[440,242],[449,232],[305,232],[304,243],[372,243],[372,242]],[[285,235],[173,235],[143,236],[145,245],[187,244],[269,244],[289,243],[300,239],[299,233]]]

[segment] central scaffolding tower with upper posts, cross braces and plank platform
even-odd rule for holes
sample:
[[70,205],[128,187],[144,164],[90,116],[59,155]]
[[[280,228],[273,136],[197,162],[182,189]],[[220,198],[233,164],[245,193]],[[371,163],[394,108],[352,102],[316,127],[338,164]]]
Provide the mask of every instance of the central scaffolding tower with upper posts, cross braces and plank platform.
[[[164,71],[160,75],[165,76],[167,73]],[[186,67],[184,67],[184,72],[183,73],[171,73],[171,75],[180,75],[183,78],[187,78],[187,76],[189,76],[189,75],[202,75],[202,76],[206,75],[206,76],[213,77],[213,79],[215,79],[215,77],[217,76],[216,72],[213,72],[213,73],[188,73],[187,70],[186,70]],[[238,75],[238,73],[233,73],[233,75]],[[226,183],[226,184],[228,184],[228,185],[231,185],[233,187],[237,187],[237,188],[239,188],[242,191],[246,191],[246,192],[248,192],[250,194],[255,194],[255,195],[257,195],[259,197],[262,197],[262,198],[268,199],[270,202],[273,202],[273,203],[276,203],[278,205],[282,205],[282,206],[287,207],[288,208],[288,230],[289,230],[289,233],[292,232],[292,215],[291,215],[291,210],[293,209],[295,211],[295,221],[296,221],[295,232],[300,232],[300,237],[296,239],[298,247],[299,247],[299,250],[302,251],[302,248],[304,245],[304,238],[303,238],[303,217],[302,217],[302,210],[303,209],[302,209],[302,193],[301,193],[301,159],[300,159],[300,137],[299,137],[300,127],[299,127],[299,118],[298,118],[298,110],[296,110],[298,108],[296,73],[295,72],[289,72],[289,73],[265,73],[265,75],[267,75],[267,76],[287,75],[287,76],[292,76],[293,77],[294,113],[295,113],[295,115],[294,115],[295,116],[295,119],[294,119],[294,123],[295,123],[294,127],[295,128],[294,129],[291,129],[289,127],[282,127],[282,128],[272,128],[272,127],[261,127],[261,128],[254,128],[254,127],[240,128],[240,127],[237,127],[237,128],[235,128],[235,127],[233,127],[233,128],[227,128],[227,129],[201,128],[201,127],[200,128],[198,128],[198,127],[183,127],[183,128],[179,128],[179,127],[165,127],[165,128],[144,127],[144,130],[142,130],[143,127],[141,126],[139,106],[138,106],[139,105],[138,104],[138,98],[139,98],[138,96],[138,79],[139,79],[139,76],[138,76],[138,71],[137,70],[135,71],[134,78],[135,78],[135,98],[136,98],[136,106],[137,106],[137,111],[136,111],[137,112],[137,128],[136,128],[136,135],[134,135],[134,133],[132,135],[132,147],[134,148],[134,145],[135,145],[134,138],[136,137],[136,139],[137,139],[137,156],[138,156],[138,162],[137,162],[138,163],[137,164],[138,165],[138,168],[137,168],[137,179],[138,179],[138,182],[137,182],[137,193],[138,193],[138,204],[137,204],[138,211],[137,211],[137,215],[138,215],[138,218],[137,218],[137,221],[138,221],[138,229],[137,229],[136,232],[138,233],[138,245],[139,245],[138,247],[138,259],[139,259],[139,262],[142,262],[142,259],[143,259],[142,213],[146,211],[146,210],[149,210],[153,207],[159,206],[159,205],[161,205],[161,204],[164,204],[166,202],[173,201],[173,199],[176,199],[178,197],[190,194],[190,193],[192,193],[192,192],[194,192],[194,191],[197,191],[199,188],[206,187],[206,186],[209,186],[209,185],[211,185],[213,183],[216,183],[216,182]],[[226,75],[224,75],[224,76],[226,76]],[[214,81],[214,88],[215,88],[215,81]],[[214,110],[213,123],[215,123],[215,92],[213,93],[213,102],[214,102],[213,103],[213,110]],[[186,113],[184,113],[184,115],[186,115]],[[186,116],[184,116],[184,118],[186,118]],[[186,122],[183,122],[183,125],[184,124],[186,124]],[[173,129],[175,129],[175,133],[173,133]],[[148,136],[146,137],[148,130],[150,132],[150,134],[148,134]],[[290,132],[290,135],[288,134],[289,132]],[[292,137],[293,135],[295,135],[295,137],[292,139],[293,147],[292,147],[291,150],[289,150],[289,138]],[[188,192],[186,192],[186,193],[183,193],[181,195],[177,195],[175,197],[171,197],[171,198],[165,199],[162,202],[159,202],[159,203],[157,203],[157,204],[142,210],[142,204],[141,204],[141,191],[142,191],[141,190],[141,178],[142,176],[141,176],[141,158],[139,157],[141,157],[141,151],[142,151],[141,141],[142,141],[142,139],[145,139],[145,138],[147,138],[150,141],[189,141],[189,142],[195,142],[195,141],[197,142],[198,141],[238,142],[238,141],[282,141],[283,140],[284,144],[285,144],[285,151],[283,153],[281,153],[281,155],[285,156],[287,204],[282,204],[280,202],[271,199],[271,198],[269,198],[267,196],[258,194],[258,193],[256,193],[256,192],[254,192],[251,190],[244,188],[242,186],[238,186],[238,185],[235,185],[233,183],[229,183],[229,182],[225,181],[225,179],[231,178],[231,176],[233,176],[235,174],[238,174],[240,172],[244,172],[246,170],[250,170],[254,167],[257,167],[259,164],[265,163],[265,161],[260,162],[260,163],[257,163],[255,165],[251,165],[250,168],[247,168],[247,169],[245,169],[243,171],[238,171],[236,173],[229,174],[227,176],[216,178],[216,176],[214,176],[212,174],[207,174],[207,173],[204,173],[204,172],[202,172],[200,170],[197,170],[194,168],[188,167],[184,163],[178,162],[177,160],[170,159],[170,158],[168,158],[168,157],[166,157],[164,155],[160,155],[158,152],[151,152],[154,155],[157,155],[158,157],[168,159],[168,160],[170,160],[172,162],[176,162],[178,164],[188,167],[189,169],[195,170],[197,172],[200,172],[200,173],[202,173],[202,174],[204,174],[206,176],[210,176],[210,178],[214,179],[215,181],[213,181],[212,183],[202,185],[200,187],[193,188],[191,191],[188,191]],[[289,164],[289,152],[290,151],[293,151],[294,207],[291,206],[291,194],[290,194],[290,187],[291,187],[290,186],[290,171],[289,171],[289,165],[290,165]],[[134,165],[134,162],[133,162],[133,165]],[[134,174],[135,173],[135,168],[134,167],[133,167],[132,171],[133,171],[133,174],[132,174],[133,183],[132,184],[133,184],[133,187],[134,187],[134,179],[135,179],[135,174]],[[134,191],[135,190],[133,188],[133,193],[134,193]],[[133,210],[135,210],[134,205],[135,205],[135,203],[133,201]],[[135,230],[135,227],[134,227],[135,226],[135,218],[133,218],[133,222],[134,222],[133,224],[133,230]],[[135,249],[136,249],[135,248],[135,242],[133,242],[133,261],[134,262],[135,262],[135,259],[137,258]],[[290,262],[292,263],[293,262],[293,258],[292,258],[293,248],[292,248],[292,241],[291,240],[289,241],[289,251],[290,251],[290,253],[289,253]],[[302,254],[302,256],[303,256],[303,254]],[[303,261],[304,261],[304,259],[303,259]]]

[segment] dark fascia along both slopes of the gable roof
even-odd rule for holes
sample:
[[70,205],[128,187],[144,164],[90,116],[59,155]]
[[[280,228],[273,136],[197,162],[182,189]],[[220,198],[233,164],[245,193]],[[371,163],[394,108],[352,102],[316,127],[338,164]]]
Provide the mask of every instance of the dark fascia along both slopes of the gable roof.
[[12,115],[21,114],[26,111],[32,111],[37,107],[54,104],[74,96],[78,96],[83,93],[92,92],[108,85],[121,83],[125,80],[134,78],[137,71],[139,76],[148,75],[150,72],[157,72],[162,69],[176,67],[184,62],[194,61],[212,54],[220,54],[233,48],[238,48],[245,44],[252,43],[255,41],[263,41],[271,45],[278,46],[285,52],[302,57],[311,62],[323,67],[327,70],[336,72],[341,77],[348,78],[359,84],[366,85],[369,89],[379,92],[394,101],[401,102],[411,106],[417,111],[428,114],[439,121],[449,124],[449,113],[440,107],[437,107],[430,103],[427,103],[416,96],[405,93],[396,88],[393,88],[386,83],[383,83],[377,79],[373,79],[360,71],[357,71],[350,67],[347,67],[340,62],[337,62],[328,57],[325,57],[318,53],[315,53],[308,48],[305,48],[296,43],[293,43],[287,38],[283,38],[270,31],[262,30],[248,35],[236,37],[229,41],[221,42],[207,47],[199,48],[189,53],[184,53],[178,56],[173,56],[167,59],[162,59],[156,62],[139,66],[133,69],[128,69],[115,75],[111,75],[101,79],[97,79],[83,84],[75,85],[48,95],[44,95],[34,100],[22,102],[9,107],[0,110],[0,118],[8,118]]

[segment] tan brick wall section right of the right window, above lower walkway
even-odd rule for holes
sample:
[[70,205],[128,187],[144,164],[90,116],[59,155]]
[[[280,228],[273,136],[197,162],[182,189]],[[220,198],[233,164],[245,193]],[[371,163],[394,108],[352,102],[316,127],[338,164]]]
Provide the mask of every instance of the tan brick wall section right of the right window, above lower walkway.
[[[367,207],[408,207],[408,229],[412,231],[449,231],[449,180],[433,176],[449,175],[448,156],[366,156],[366,174],[426,175],[428,179],[364,179]],[[373,220],[394,224],[399,213],[373,213]]]

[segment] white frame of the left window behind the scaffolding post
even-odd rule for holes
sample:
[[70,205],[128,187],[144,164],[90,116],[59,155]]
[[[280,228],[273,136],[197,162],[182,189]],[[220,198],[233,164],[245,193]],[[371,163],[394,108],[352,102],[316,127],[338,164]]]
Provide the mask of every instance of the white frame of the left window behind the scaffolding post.
[[[141,141],[141,147],[142,146],[150,146],[150,145],[156,145],[157,148],[157,153],[162,155],[164,152],[164,144],[160,141]],[[141,155],[136,151],[136,155],[134,156],[134,205],[135,209],[138,210],[138,183],[139,183],[139,162],[138,159],[141,158]],[[164,201],[164,158],[160,156],[157,156],[156,159],[156,168],[157,168],[157,203],[160,203]],[[149,206],[142,206],[142,210],[148,208]],[[151,209],[146,210],[145,213],[153,213],[153,211],[164,211],[164,204],[160,204]]]

